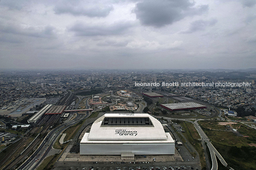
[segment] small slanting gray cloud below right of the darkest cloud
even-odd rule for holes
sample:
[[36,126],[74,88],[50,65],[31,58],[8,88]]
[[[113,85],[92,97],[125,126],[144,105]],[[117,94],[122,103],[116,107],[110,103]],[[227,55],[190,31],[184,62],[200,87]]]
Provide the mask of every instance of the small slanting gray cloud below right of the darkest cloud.
[[188,30],[183,31],[182,33],[192,33],[195,31],[205,30],[208,26],[213,26],[217,23],[217,20],[196,20],[193,21]]

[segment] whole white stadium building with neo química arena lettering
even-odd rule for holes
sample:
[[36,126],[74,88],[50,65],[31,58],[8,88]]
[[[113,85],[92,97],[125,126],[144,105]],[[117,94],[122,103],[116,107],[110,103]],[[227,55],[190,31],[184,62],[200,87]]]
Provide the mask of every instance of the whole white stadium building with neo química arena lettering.
[[166,155],[175,142],[149,114],[105,114],[80,142],[80,155]]

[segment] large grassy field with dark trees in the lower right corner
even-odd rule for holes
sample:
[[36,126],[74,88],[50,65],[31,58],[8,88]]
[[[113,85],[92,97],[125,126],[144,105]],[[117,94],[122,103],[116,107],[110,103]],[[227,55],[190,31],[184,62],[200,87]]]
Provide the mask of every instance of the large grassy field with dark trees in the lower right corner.
[[244,135],[238,136],[233,131],[211,130],[226,128],[218,125],[217,121],[199,121],[199,124],[229,166],[235,170],[256,170],[256,147],[250,146],[256,146],[256,130],[241,123],[232,124],[233,128]]

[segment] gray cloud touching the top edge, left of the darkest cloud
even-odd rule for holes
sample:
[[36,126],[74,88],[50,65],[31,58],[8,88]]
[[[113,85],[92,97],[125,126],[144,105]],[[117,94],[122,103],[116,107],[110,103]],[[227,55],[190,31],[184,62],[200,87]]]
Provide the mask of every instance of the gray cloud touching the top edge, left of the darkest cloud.
[[67,13],[75,16],[83,15],[88,17],[106,17],[113,9],[112,5],[99,5],[97,2],[94,2],[93,4],[86,2],[83,4],[79,0],[63,0],[58,2],[53,10],[56,14]]

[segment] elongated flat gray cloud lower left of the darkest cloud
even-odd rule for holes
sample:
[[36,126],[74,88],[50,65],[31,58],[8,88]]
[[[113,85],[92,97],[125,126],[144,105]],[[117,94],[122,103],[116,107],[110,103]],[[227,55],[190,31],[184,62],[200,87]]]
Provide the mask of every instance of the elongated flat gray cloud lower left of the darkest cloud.
[[76,23],[68,30],[75,32],[76,36],[107,36],[123,34],[132,26],[133,25],[129,22],[118,22],[111,25],[99,24],[94,26]]

